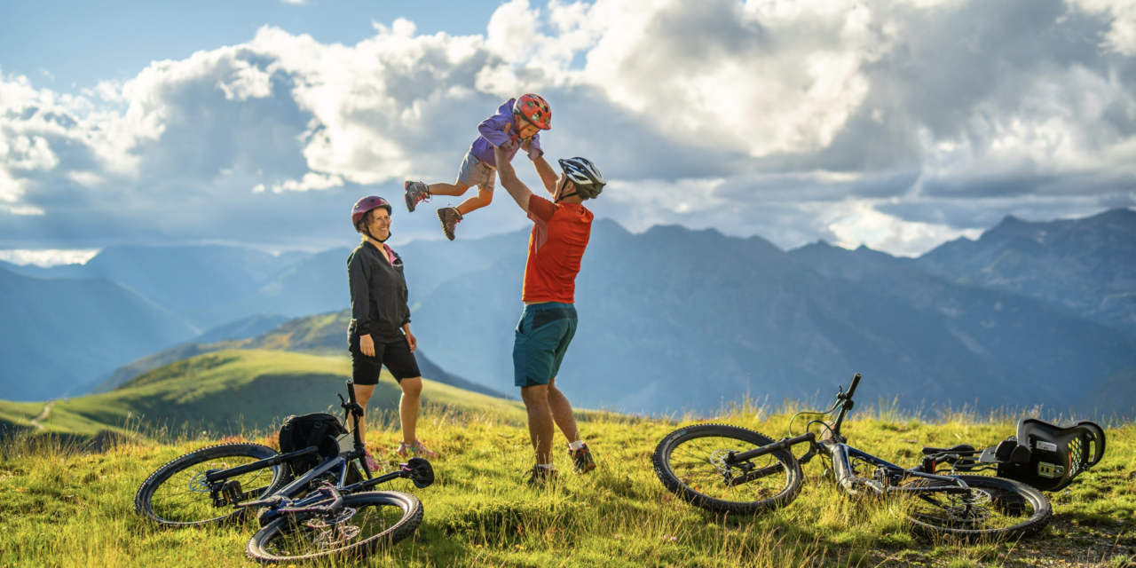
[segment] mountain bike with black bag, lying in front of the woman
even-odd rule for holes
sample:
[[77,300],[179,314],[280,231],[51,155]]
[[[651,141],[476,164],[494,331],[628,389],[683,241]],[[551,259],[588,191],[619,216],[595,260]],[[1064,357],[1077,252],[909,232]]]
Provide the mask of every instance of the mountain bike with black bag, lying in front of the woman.
[[[262,562],[364,557],[402,541],[421,523],[421,503],[409,493],[367,490],[399,478],[424,488],[434,483],[434,470],[425,459],[412,458],[398,471],[371,477],[359,437],[362,407],[354,384],[348,381],[349,401],[339,396],[344,421],[353,419],[352,449],[341,450],[345,428],[336,417],[295,417],[282,428],[285,453],[248,443],[190,452],[150,475],[139,487],[134,510],[167,527],[189,527],[236,520],[258,509],[261,528],[245,553]],[[309,417],[316,421],[308,423],[315,427],[302,437],[306,446],[287,452],[291,423]]]

